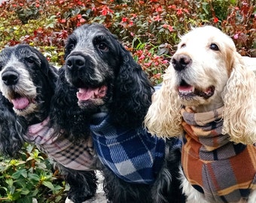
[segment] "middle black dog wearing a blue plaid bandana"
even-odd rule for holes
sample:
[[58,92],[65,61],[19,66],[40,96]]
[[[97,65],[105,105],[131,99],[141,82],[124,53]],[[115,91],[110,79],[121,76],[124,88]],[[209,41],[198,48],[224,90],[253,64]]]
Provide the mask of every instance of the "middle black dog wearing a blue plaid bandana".
[[91,115],[90,132],[110,202],[184,202],[178,165],[181,142],[164,141],[142,123],[154,87],[105,26],[86,24],[69,35],[66,80]]

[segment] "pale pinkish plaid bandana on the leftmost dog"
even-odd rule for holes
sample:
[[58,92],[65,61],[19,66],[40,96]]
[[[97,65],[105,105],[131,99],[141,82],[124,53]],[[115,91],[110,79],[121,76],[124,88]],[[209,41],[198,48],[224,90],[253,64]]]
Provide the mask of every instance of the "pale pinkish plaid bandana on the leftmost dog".
[[38,149],[56,162],[78,171],[92,169],[94,162],[93,141],[81,140],[79,143],[69,141],[64,135],[53,135],[49,127],[49,118],[42,123],[29,126],[26,141],[36,144]]

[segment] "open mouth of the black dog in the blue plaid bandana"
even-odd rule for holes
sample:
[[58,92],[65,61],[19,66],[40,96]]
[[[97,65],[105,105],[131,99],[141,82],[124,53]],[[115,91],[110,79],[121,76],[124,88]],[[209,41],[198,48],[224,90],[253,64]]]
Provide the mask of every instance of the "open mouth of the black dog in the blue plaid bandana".
[[79,102],[86,102],[96,98],[103,98],[107,94],[108,87],[100,86],[97,88],[79,88],[77,97]]

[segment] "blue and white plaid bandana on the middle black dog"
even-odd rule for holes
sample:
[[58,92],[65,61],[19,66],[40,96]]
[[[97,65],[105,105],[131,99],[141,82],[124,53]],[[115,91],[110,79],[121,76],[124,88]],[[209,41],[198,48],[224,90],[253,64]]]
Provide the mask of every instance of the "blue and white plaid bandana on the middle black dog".
[[165,142],[145,129],[112,126],[108,114],[93,117],[90,127],[103,165],[129,183],[152,183],[163,165]]

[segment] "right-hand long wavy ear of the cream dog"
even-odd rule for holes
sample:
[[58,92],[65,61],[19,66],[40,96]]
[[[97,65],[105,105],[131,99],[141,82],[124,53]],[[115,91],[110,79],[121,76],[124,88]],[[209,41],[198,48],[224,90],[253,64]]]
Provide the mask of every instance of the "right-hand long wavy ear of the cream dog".
[[245,67],[242,56],[235,53],[233,70],[222,98],[224,101],[223,133],[230,141],[243,144],[256,143],[256,78]]

